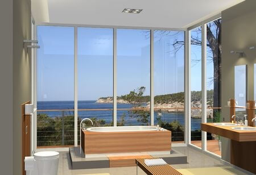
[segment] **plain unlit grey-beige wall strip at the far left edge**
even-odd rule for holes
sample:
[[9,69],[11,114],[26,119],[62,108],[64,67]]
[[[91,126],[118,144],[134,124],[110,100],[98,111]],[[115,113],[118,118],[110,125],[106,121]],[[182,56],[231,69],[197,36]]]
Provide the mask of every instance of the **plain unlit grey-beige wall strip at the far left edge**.
[[0,174],[13,174],[13,0],[0,1]]

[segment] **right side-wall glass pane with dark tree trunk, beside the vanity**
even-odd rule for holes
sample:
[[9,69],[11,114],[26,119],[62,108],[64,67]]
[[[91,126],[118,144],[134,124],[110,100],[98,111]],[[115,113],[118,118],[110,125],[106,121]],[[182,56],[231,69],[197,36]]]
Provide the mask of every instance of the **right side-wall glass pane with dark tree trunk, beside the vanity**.
[[[221,120],[221,19],[207,23],[207,122]],[[221,156],[220,136],[207,132],[207,151]]]

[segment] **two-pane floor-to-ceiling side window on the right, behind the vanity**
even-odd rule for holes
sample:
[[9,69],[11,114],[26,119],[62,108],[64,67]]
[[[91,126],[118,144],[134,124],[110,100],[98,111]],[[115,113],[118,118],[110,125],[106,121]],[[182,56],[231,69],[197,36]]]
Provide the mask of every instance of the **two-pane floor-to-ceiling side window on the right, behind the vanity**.
[[[221,156],[221,138],[201,122],[221,122],[221,18],[189,30],[190,144]],[[203,135],[202,135],[203,134]]]

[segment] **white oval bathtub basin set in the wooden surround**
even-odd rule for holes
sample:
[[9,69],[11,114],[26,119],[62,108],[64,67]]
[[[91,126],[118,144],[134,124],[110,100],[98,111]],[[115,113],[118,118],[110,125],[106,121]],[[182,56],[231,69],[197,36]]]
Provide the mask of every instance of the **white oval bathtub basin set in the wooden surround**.
[[93,127],[87,128],[90,132],[132,132],[132,131],[156,131],[155,126],[117,126],[117,127]]

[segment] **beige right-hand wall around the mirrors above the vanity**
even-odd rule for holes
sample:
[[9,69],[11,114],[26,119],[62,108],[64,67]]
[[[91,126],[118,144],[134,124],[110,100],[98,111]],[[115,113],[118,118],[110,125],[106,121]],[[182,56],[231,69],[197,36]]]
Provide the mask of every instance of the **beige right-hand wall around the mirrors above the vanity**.
[[[256,1],[246,0],[222,12],[222,69],[221,104],[222,116],[229,121],[229,108],[225,107],[234,98],[234,66],[248,65],[248,99],[254,99],[254,63],[256,63]],[[245,55],[230,54],[244,51]],[[222,159],[230,161],[230,140],[222,141]]]

